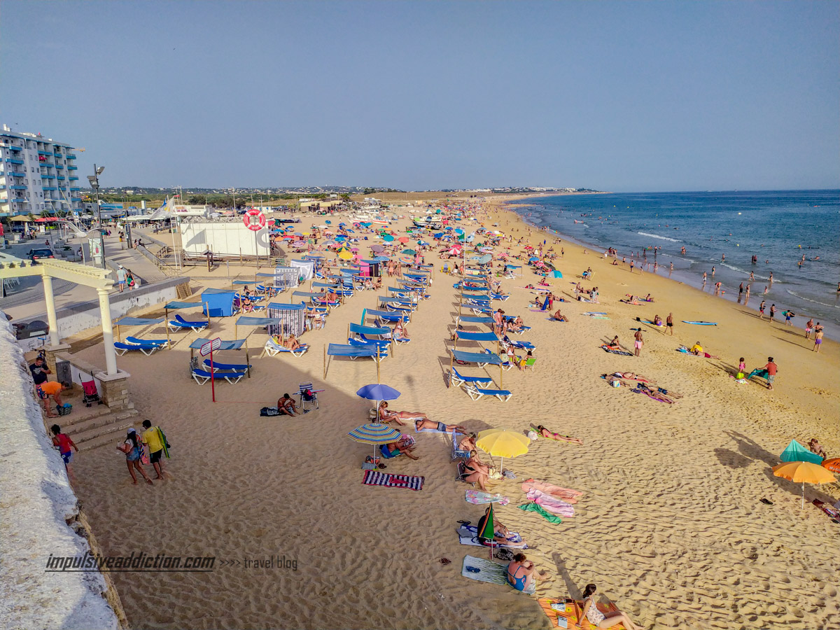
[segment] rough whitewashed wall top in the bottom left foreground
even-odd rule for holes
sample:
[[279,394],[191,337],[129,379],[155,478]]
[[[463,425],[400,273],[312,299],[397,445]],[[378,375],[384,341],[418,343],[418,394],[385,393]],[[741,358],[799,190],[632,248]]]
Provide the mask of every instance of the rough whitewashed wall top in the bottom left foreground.
[[9,628],[119,627],[98,572],[45,571],[53,556],[91,552],[68,525],[79,507],[64,463],[47,437],[32,380],[11,325],[0,312],[0,622]]

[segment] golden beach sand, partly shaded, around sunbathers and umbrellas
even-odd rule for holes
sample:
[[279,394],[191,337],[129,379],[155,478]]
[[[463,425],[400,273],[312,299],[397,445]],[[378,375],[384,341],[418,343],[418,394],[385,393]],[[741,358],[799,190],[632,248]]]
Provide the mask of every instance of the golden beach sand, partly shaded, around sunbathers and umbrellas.
[[[514,239],[528,234],[508,210],[491,212],[486,226],[498,223]],[[533,232],[532,239],[543,235]],[[595,582],[643,627],[840,625],[834,558],[840,526],[807,503],[800,509],[800,486],[770,470],[791,438],[805,443],[816,436],[830,456],[840,452],[837,344],[827,341],[814,354],[800,330],[771,326],[753,310],[664,277],[630,275],[602,252],[562,246],[557,266],[564,278],[550,280],[555,294],[570,299],[580,271],[591,266],[594,279],[583,284],[600,287],[601,304],[561,303],[570,322],[549,322],[546,313],[528,310],[532,293],[517,288],[537,276],[526,270],[523,278],[503,281],[511,298],[494,307],[521,314],[533,329],[517,339],[538,347],[533,372],[504,373],[504,386],[514,392],[507,403],[472,402],[447,387],[454,280],[439,273],[437,255],[427,255],[437,266],[432,297],[408,326],[411,344],[382,363],[382,382],[402,391],[391,408],[427,412],[474,431],[521,432],[543,423],[583,438],[583,446],[532,443],[528,454],[505,461],[516,480],[491,482],[491,491],[511,499],[498,507],[497,519],[533,547],[526,554],[539,572],[537,596],[580,596]],[[225,270],[191,273],[196,291],[227,281]],[[245,270],[243,277],[252,274]],[[625,293],[648,292],[654,304],[618,302]],[[418,461],[387,461],[386,472],[424,475],[422,491],[362,485],[360,462],[371,447],[346,433],[366,422],[371,404],[355,391],[376,381],[375,364],[333,360],[323,381],[323,346],[346,343],[348,323],[359,321],[363,307],[375,307],[377,294],[357,292],[326,328],[307,333],[303,340],[312,349],[301,359],[255,358],[252,350],[252,378],[219,384],[216,404],[210,386],[189,377],[187,346],[195,333],[175,333],[169,351],[118,359],[131,374],[138,426],[144,418],[160,424],[172,459],[165,461],[165,481],[131,486],[113,446],[81,453],[74,460],[76,491],[93,531],[109,554],[217,558],[212,573],[113,574],[133,627],[550,627],[536,598],[461,577],[464,556],[486,557],[487,550],[459,545],[457,521],[475,523],[484,510],[464,501],[469,486],[454,480],[444,435],[417,435]],[[753,307],[760,302],[755,298]],[[590,310],[606,311],[609,319],[580,315]],[[668,312],[675,315],[673,339],[634,319]],[[233,319],[214,320],[210,336],[233,339]],[[689,326],[682,319],[718,325]],[[638,325],[646,341],[640,358],[598,347],[615,334],[632,347],[631,328]],[[134,332],[156,337],[162,328]],[[264,340],[257,331],[249,345]],[[675,352],[697,340],[722,360]],[[469,345],[461,342],[459,349]],[[77,347],[82,359],[102,363],[101,344]],[[727,372],[740,356],[752,369],[768,355],[780,366],[774,391],[738,385]],[[220,353],[223,359],[239,362],[241,354]],[[633,370],[684,397],[670,406],[613,389],[600,375],[614,370]],[[499,378],[496,370],[488,374]],[[259,416],[260,407],[273,406],[304,381],[325,390],[320,409],[295,418]],[[583,491],[575,516],[554,525],[518,510],[525,500],[520,485],[530,477]],[[806,487],[806,498],[824,495],[836,499],[840,492],[834,484]],[[272,554],[296,560],[297,570],[243,565]],[[441,564],[444,557],[452,564]]]

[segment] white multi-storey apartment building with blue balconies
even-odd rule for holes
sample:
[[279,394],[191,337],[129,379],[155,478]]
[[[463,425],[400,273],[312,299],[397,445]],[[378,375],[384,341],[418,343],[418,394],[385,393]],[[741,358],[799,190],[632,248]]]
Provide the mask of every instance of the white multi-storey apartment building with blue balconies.
[[0,216],[81,209],[76,155],[40,134],[0,130]]

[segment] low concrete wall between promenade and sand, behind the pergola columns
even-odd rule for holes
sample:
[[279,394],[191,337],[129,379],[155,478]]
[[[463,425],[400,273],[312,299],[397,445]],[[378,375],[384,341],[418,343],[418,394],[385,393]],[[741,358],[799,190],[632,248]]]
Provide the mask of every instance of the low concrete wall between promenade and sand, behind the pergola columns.
[[[162,305],[166,302],[176,300],[178,299],[176,287],[184,284],[186,281],[186,278],[171,278],[170,280],[162,280],[154,284],[140,286],[134,291],[112,293],[110,296],[111,318],[118,319],[128,312],[139,308],[154,306],[155,304]],[[58,318],[58,330],[61,339],[65,339],[76,333],[81,333],[82,330],[87,330],[88,328],[99,328],[102,326],[102,319],[99,316],[98,300],[81,302],[71,307],[61,308],[56,312],[56,316]],[[46,313],[40,313],[39,315],[16,321],[17,323],[25,323],[34,319],[46,321]],[[18,345],[26,351],[38,348],[40,342],[38,339],[22,339],[18,341]]]

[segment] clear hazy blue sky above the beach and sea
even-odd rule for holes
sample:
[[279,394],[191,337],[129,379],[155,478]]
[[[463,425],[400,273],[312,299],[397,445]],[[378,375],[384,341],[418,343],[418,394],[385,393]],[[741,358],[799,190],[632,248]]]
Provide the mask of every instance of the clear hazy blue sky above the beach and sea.
[[104,186],[840,187],[837,2],[0,6]]

